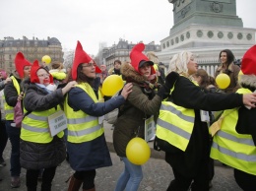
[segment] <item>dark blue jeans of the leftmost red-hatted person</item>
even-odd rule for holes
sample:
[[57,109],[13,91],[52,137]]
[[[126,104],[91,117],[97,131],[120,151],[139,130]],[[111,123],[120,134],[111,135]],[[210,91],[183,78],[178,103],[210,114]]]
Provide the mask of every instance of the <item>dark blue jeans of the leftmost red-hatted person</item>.
[[21,128],[12,127],[11,123],[13,121],[6,121],[6,132],[8,134],[9,140],[12,145],[11,151],[11,176],[20,176],[21,173],[21,163],[20,163],[20,135],[21,135]]

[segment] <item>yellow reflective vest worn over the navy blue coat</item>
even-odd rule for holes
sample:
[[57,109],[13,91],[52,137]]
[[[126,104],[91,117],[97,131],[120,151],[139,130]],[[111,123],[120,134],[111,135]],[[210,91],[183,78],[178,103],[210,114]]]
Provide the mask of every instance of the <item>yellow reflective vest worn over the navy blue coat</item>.
[[[97,102],[96,94],[88,83],[82,83],[76,87],[84,90]],[[89,142],[103,134],[104,130],[98,124],[98,117],[88,115],[82,110],[74,111],[68,104],[68,96],[65,99],[64,111],[67,116],[69,142]]]

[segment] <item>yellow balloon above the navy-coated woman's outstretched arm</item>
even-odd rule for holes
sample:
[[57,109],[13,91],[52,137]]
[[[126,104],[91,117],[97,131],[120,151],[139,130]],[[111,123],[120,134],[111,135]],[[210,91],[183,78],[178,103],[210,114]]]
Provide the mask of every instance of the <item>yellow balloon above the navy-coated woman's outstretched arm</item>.
[[124,82],[118,75],[110,75],[106,77],[102,84],[102,94],[104,96],[114,96],[123,88]]

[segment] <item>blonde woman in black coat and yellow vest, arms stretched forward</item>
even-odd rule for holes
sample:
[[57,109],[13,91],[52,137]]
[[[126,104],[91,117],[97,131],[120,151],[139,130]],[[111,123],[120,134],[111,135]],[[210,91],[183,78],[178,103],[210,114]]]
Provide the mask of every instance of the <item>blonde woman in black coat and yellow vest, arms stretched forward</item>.
[[[171,101],[162,101],[157,125],[156,142],[165,152],[174,180],[167,191],[209,190],[209,130],[201,119],[202,110],[223,110],[253,106],[256,94],[206,94],[191,80],[198,65],[191,52],[175,54],[168,71],[180,74],[171,90]],[[202,115],[203,116],[203,115]]]

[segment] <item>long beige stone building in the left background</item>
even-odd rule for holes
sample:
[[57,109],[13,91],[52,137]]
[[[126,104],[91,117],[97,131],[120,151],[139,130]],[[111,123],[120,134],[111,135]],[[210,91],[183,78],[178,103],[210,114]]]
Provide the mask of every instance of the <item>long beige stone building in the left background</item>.
[[29,39],[23,36],[22,39],[15,39],[8,36],[0,39],[0,68],[8,73],[14,71],[14,59],[19,51],[23,52],[30,62],[35,59],[41,62],[44,55],[50,56],[51,61],[63,62],[62,46],[56,37],[47,37],[47,39],[32,37]]

